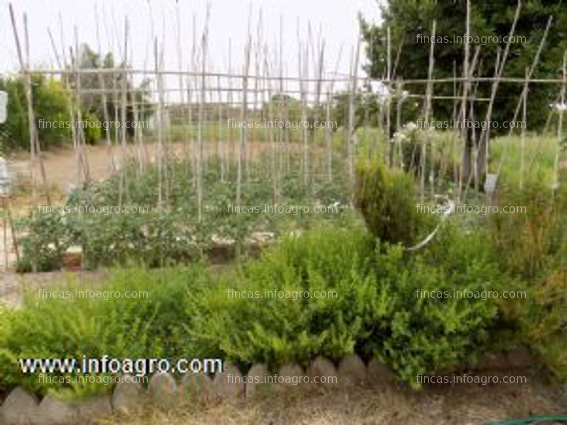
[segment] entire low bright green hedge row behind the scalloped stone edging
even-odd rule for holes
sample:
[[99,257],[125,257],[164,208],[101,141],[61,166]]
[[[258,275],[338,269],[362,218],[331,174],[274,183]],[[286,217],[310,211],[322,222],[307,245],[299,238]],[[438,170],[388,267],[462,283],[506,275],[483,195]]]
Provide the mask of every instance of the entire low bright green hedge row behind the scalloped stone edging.
[[[22,309],[3,312],[0,386],[68,391],[22,376],[15,364],[22,357],[176,358],[191,352],[276,369],[357,352],[387,362],[414,387],[418,373],[450,372],[477,359],[497,324],[496,304],[420,298],[417,290],[481,291],[505,282],[486,239],[448,227],[430,248],[409,256],[399,246],[376,246],[361,224],[348,219],[287,236],[260,260],[218,278],[196,266],[125,269],[100,288],[146,290],[147,299],[37,302],[30,294]],[[283,295],[268,294],[274,290]],[[73,388],[71,394],[101,390]]]

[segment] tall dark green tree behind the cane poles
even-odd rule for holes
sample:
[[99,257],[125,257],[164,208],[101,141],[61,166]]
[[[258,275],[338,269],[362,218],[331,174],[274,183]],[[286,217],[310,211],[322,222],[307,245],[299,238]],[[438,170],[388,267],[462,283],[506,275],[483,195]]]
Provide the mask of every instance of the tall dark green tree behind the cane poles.
[[[515,0],[471,0],[470,15],[470,61],[478,47],[479,56],[474,76],[493,77],[499,52],[506,48],[506,38],[514,22],[518,2]],[[391,31],[391,59],[395,64],[395,78],[428,78],[429,43],[431,25],[437,21],[435,37],[435,67],[433,78],[450,78],[456,71],[463,76],[464,35],[466,35],[466,0],[387,0],[380,6],[382,22],[371,25],[361,19],[362,34],[366,41],[369,62],[366,69],[373,78],[386,74],[387,28]],[[567,5],[562,0],[523,1],[515,28],[515,41],[510,44],[502,78],[521,78],[531,66],[540,41],[544,35],[549,16],[553,17],[544,48],[532,78],[561,78],[562,56],[567,49]],[[440,38],[441,37],[441,38]],[[460,37],[460,38],[459,38]],[[490,37],[490,38],[489,38]],[[470,62],[469,62],[470,63]],[[532,85],[532,87],[535,87]],[[424,84],[405,84],[405,90],[423,94]],[[435,95],[451,96],[452,84],[435,84]],[[477,98],[489,98],[492,82],[476,83],[471,87]],[[490,133],[502,134],[508,131],[502,124],[513,120],[523,84],[502,82],[498,86],[492,109],[492,121],[498,128]],[[459,93],[462,85],[459,84]],[[538,130],[543,127],[549,113],[549,105],[556,101],[557,86],[538,84],[537,90],[530,90],[527,108],[528,128]],[[469,120],[483,121],[488,102],[471,101],[467,105]],[[458,110],[458,109],[457,109]],[[435,100],[433,112],[437,120],[452,120],[454,103],[452,100]],[[521,115],[518,116],[517,119]],[[480,131],[467,131],[466,152],[479,146]],[[479,155],[480,156],[480,155]],[[471,155],[463,156],[464,181],[471,169]],[[484,160],[476,164],[477,175],[485,173]]]

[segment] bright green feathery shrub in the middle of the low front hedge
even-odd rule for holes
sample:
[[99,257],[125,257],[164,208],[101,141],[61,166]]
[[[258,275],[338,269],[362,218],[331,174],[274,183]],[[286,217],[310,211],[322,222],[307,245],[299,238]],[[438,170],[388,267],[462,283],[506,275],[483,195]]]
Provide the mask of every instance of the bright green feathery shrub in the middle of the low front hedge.
[[[209,312],[198,329],[229,358],[247,364],[276,368],[317,355],[339,359],[354,351],[375,291],[368,274],[372,250],[360,226],[288,237],[260,261],[223,278],[206,297],[194,298]],[[260,298],[230,297],[229,289]],[[265,296],[274,290],[289,291],[290,298]],[[304,298],[300,291],[326,296]]]

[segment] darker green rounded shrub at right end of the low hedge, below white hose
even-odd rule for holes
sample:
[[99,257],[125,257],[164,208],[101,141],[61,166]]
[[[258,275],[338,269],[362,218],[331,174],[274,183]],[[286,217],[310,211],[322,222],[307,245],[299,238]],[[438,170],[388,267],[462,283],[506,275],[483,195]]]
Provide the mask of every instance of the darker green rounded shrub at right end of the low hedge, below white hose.
[[400,247],[382,249],[376,282],[378,299],[387,303],[371,308],[365,318],[370,332],[361,347],[365,354],[391,364],[414,388],[420,386],[418,373],[448,373],[474,363],[498,320],[494,300],[453,293],[502,284],[496,262],[481,250],[486,243],[450,226],[440,233],[431,247],[412,257]]

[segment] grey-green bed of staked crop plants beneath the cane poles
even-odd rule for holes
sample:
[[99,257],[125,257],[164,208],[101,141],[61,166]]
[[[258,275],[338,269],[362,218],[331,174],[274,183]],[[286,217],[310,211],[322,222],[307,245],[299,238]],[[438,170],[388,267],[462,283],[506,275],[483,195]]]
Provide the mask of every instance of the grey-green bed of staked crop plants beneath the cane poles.
[[[293,164],[295,160],[292,158]],[[271,175],[266,168],[269,159],[252,163],[255,175]],[[195,260],[209,249],[213,236],[244,243],[255,231],[276,234],[308,228],[321,220],[336,220],[348,202],[344,175],[336,172],[332,182],[325,176],[315,176],[310,185],[303,185],[299,175],[282,176],[280,206],[330,206],[337,203],[335,212],[328,214],[298,213],[235,213],[236,166],[230,164],[230,175],[222,180],[217,159],[204,164],[203,220],[198,222],[197,193],[188,165],[172,162],[164,173],[184,176],[172,179],[168,186],[167,203],[158,207],[158,167],[149,165],[139,173],[136,164],[126,169],[128,185],[124,188],[122,206],[136,206],[137,213],[109,212],[120,205],[120,177],[102,182],[90,182],[75,190],[64,207],[71,211],[35,212],[22,220],[20,227],[28,230],[20,240],[23,256],[22,271],[52,270],[60,267],[62,253],[70,246],[82,248],[84,264],[89,269],[112,264],[125,264],[134,258],[150,267]],[[134,177],[136,176],[136,177]],[[269,179],[255,179],[242,185],[242,205],[273,205],[273,184]],[[75,206],[90,205],[95,212],[74,213]],[[96,212],[96,207],[106,212]],[[141,210],[141,208],[145,210]],[[59,208],[57,209],[57,211]],[[58,247],[57,249],[54,247]]]

